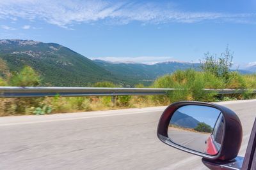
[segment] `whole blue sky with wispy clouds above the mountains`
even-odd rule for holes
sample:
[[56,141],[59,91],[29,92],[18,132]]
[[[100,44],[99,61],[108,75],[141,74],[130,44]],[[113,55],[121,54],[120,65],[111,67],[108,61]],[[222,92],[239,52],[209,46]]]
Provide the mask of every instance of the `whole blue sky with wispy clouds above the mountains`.
[[60,43],[90,59],[198,62],[228,45],[256,63],[256,1],[0,1],[0,39]]

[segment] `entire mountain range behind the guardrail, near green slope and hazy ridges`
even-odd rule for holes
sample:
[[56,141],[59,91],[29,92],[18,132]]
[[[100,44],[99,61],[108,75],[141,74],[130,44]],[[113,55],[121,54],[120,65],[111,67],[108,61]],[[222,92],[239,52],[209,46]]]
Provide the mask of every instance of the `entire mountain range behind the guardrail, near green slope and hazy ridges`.
[[[150,85],[157,77],[177,69],[200,70],[199,63],[190,62],[148,65],[90,60],[56,43],[21,39],[0,40],[0,59],[6,62],[10,71],[20,71],[28,65],[40,74],[43,85],[66,87],[85,87],[97,81],[112,81],[124,87],[132,87],[137,83]],[[239,70],[246,74],[251,71],[256,71],[256,66]]]

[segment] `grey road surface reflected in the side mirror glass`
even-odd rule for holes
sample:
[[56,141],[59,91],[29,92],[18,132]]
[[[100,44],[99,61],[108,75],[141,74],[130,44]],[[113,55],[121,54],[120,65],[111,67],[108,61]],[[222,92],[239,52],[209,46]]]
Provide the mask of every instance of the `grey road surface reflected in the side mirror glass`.
[[177,127],[169,127],[168,136],[172,136],[172,141],[178,145],[205,153],[207,152],[205,150],[207,146],[205,141],[207,141],[211,134],[186,131]]

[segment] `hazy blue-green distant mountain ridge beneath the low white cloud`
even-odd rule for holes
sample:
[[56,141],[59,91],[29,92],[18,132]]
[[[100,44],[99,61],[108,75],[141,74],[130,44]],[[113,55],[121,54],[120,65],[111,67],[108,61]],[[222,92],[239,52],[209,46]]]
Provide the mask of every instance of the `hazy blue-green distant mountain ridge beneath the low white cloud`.
[[154,81],[157,77],[170,74],[177,69],[195,68],[199,70],[199,63],[189,62],[160,62],[156,64],[139,63],[116,63],[105,60],[93,60],[98,66],[103,67],[109,72],[122,76],[127,79],[140,79],[144,81]]

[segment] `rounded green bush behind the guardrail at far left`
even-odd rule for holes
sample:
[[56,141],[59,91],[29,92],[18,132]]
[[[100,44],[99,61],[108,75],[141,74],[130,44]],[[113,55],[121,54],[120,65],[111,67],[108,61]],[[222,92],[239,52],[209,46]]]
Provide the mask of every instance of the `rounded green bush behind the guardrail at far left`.
[[19,73],[12,75],[10,79],[12,86],[38,86],[40,85],[40,76],[29,66],[25,66]]

